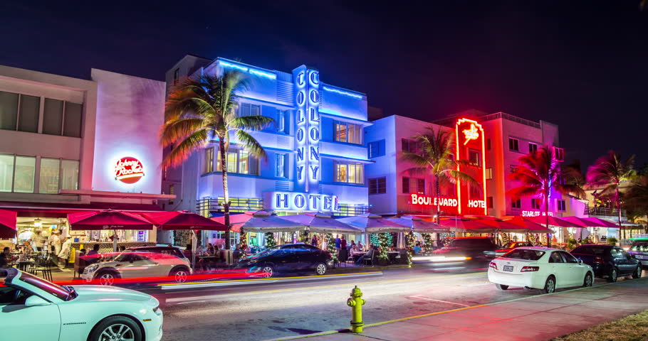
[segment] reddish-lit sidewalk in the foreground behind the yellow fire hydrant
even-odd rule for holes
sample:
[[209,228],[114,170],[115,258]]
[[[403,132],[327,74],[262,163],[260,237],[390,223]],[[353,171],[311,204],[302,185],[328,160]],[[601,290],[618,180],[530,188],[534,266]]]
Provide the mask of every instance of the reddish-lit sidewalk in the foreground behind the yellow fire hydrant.
[[[361,334],[333,330],[302,337],[308,341],[550,340],[647,308],[648,278],[641,278],[373,323],[365,325]],[[296,338],[300,337],[275,340]]]

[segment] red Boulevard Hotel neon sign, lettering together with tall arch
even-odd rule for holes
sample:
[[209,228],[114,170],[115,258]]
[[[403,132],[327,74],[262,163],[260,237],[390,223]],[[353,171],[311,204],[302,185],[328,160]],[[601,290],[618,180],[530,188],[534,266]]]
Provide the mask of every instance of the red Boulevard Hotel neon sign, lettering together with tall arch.
[[[456,182],[456,198],[454,197],[430,197],[412,193],[409,195],[411,205],[439,206],[446,213],[464,215],[487,215],[486,208],[486,155],[484,151],[485,139],[484,129],[481,124],[471,119],[459,119],[455,124],[457,160],[470,161],[471,165],[458,165],[457,171],[468,173],[481,185],[481,190],[469,188],[462,185],[461,181]],[[481,192],[481,193],[479,193]]]

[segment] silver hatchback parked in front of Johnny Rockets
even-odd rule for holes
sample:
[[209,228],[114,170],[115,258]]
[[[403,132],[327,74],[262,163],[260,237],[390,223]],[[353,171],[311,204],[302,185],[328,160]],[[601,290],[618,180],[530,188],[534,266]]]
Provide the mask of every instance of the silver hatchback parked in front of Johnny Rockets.
[[125,251],[112,261],[103,261],[86,266],[81,274],[85,280],[98,279],[104,286],[112,286],[115,278],[150,276],[172,276],[183,283],[192,274],[187,258],[155,252]]

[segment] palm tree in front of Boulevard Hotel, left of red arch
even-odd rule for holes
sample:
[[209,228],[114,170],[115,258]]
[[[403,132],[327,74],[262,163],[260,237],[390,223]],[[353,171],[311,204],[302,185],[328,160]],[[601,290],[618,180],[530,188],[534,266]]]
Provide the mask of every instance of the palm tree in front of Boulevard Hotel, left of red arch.
[[441,180],[448,180],[456,183],[457,180],[478,187],[477,181],[469,174],[457,171],[459,165],[469,165],[468,161],[454,159],[454,134],[450,131],[439,129],[434,131],[434,127],[428,126],[427,131],[423,134],[413,136],[417,143],[418,151],[402,151],[401,160],[412,163],[415,167],[409,168],[406,172],[420,174],[432,173],[434,176],[434,193],[437,197],[437,224],[441,214],[440,200]]

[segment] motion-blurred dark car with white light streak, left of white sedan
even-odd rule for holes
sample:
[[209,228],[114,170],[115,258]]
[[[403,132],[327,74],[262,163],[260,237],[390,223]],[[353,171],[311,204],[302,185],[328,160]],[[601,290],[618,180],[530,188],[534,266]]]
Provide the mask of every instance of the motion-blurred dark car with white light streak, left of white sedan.
[[446,247],[434,250],[432,261],[490,261],[497,245],[488,237],[464,237],[452,240]]

